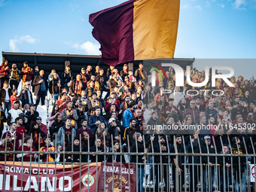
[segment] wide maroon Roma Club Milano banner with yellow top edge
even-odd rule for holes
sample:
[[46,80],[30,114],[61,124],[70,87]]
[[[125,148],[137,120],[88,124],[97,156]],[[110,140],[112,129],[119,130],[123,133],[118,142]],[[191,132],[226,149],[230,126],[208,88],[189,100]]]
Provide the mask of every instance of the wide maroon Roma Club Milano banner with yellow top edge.
[[0,162],[0,191],[96,191],[100,166]]

